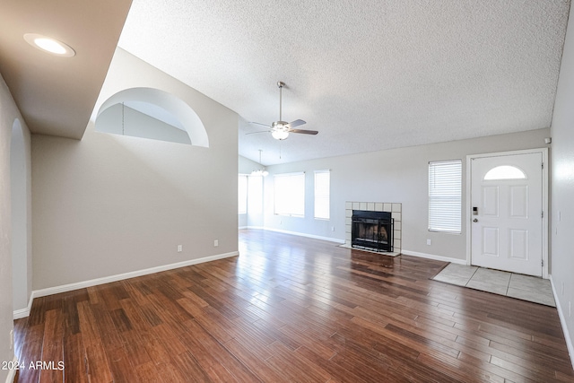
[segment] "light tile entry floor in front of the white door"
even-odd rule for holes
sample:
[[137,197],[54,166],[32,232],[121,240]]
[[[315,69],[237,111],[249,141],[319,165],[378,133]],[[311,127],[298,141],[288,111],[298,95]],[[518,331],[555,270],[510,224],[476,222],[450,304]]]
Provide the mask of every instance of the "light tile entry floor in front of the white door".
[[477,266],[448,264],[432,279],[556,307],[550,281],[535,276]]

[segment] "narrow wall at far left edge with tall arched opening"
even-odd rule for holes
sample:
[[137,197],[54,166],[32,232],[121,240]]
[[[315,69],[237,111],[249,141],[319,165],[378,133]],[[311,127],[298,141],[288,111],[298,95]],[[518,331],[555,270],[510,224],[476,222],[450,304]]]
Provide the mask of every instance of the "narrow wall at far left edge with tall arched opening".
[[[11,142],[12,132],[15,120],[20,121],[22,127],[21,144],[17,150],[23,150],[21,159],[26,162],[25,165],[30,165],[30,131],[24,125],[20,111],[14,103],[10,90],[4,83],[4,79],[0,76],[0,361],[13,360],[13,347],[10,339],[11,331],[13,330],[13,262],[12,262],[12,244],[13,244],[13,230],[12,230],[12,199],[11,199]],[[30,190],[30,166],[27,167],[27,173],[21,174],[23,182]],[[22,180],[22,179],[21,179]],[[30,212],[30,195],[25,196],[25,200],[21,202],[26,205],[27,212]],[[30,244],[30,231],[28,217],[18,217],[24,221],[25,233],[20,233],[22,237],[18,239],[20,244]],[[22,222],[22,221],[21,221]],[[21,257],[29,257],[30,247],[25,250],[26,253],[20,254]],[[29,265],[24,266],[24,274],[19,275],[23,278],[24,290],[27,290],[28,275],[31,273],[28,269]],[[21,295],[19,294],[18,301],[25,300],[30,292],[26,291]],[[0,381],[4,381],[10,371],[0,369]]]

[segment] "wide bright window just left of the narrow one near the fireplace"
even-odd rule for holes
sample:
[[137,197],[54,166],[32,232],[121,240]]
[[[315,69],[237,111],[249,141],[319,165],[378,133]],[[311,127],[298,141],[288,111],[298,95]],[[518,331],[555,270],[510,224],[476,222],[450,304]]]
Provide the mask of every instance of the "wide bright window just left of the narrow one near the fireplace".
[[305,173],[274,176],[274,213],[295,217],[305,215]]

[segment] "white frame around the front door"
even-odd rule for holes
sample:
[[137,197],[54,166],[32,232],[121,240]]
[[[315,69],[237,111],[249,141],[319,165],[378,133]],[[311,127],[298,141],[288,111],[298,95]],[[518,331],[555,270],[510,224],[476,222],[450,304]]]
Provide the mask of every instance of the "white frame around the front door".
[[510,151],[510,152],[490,152],[490,153],[480,153],[480,154],[468,154],[466,155],[466,211],[463,217],[465,220],[465,231],[466,231],[466,265],[471,265],[472,256],[472,231],[471,231],[471,221],[473,219],[472,214],[472,166],[471,162],[475,158],[486,158],[486,157],[502,157],[506,155],[515,154],[531,154],[531,153],[542,153],[542,161],[544,163],[544,168],[542,170],[542,208],[544,212],[542,221],[542,258],[544,265],[542,267],[542,277],[548,279],[548,221],[550,216],[550,210],[548,206],[548,174],[550,164],[548,162],[548,148],[536,148],[536,149],[526,149],[520,151]]

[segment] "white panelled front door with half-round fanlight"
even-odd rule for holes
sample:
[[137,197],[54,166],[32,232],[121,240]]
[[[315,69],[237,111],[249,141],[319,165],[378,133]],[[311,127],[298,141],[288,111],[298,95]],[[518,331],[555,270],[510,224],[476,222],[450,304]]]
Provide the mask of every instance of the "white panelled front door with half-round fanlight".
[[471,159],[471,263],[543,274],[543,153]]

